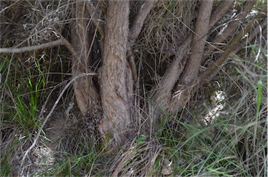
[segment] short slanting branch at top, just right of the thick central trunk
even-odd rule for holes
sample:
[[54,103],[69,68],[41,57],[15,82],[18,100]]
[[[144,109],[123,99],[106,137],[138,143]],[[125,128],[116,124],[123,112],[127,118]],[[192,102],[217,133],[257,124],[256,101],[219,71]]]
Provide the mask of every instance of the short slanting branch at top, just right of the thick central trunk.
[[133,26],[131,26],[130,29],[130,39],[132,41],[135,41],[137,39],[137,36],[139,36],[140,31],[142,30],[142,26],[144,24],[144,21],[151,11],[151,8],[153,8],[154,3],[156,3],[155,0],[147,0],[144,2],[142,7],[140,8],[139,13],[135,17],[135,20],[133,22]]

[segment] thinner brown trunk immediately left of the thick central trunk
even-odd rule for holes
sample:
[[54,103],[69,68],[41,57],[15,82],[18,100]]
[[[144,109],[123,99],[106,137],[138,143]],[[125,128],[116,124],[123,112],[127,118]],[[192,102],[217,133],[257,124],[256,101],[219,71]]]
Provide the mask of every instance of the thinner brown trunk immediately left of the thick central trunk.
[[[89,28],[89,20],[84,17],[88,15],[85,3],[76,3],[73,6],[73,17],[76,18],[71,29],[72,45],[77,53],[78,59],[73,57],[73,76],[81,73],[91,72],[89,68],[92,59],[89,51],[91,43],[94,43],[94,28]],[[82,114],[90,115],[94,109],[99,109],[101,98],[92,82],[92,77],[82,77],[73,84],[75,99]]]

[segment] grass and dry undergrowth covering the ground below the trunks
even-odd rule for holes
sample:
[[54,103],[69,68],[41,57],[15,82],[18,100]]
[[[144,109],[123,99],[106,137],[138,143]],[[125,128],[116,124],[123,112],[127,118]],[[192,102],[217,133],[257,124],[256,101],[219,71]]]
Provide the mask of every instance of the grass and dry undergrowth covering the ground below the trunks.
[[[163,116],[157,134],[145,134],[143,127],[147,126],[141,124],[150,115],[140,115],[133,139],[115,155],[107,155],[102,144],[91,148],[87,125],[71,104],[70,88],[29,156],[31,167],[23,167],[24,171],[45,176],[265,176],[265,55],[257,61],[253,56],[233,56],[188,107],[177,115]],[[42,68],[38,61],[31,67],[17,59],[1,63],[1,176],[20,169],[20,159],[33,141],[31,134],[45,116],[38,115],[40,109],[50,111],[66,84],[61,78],[70,77],[61,73],[56,82],[51,77],[56,73]],[[221,109],[211,111],[217,105]]]

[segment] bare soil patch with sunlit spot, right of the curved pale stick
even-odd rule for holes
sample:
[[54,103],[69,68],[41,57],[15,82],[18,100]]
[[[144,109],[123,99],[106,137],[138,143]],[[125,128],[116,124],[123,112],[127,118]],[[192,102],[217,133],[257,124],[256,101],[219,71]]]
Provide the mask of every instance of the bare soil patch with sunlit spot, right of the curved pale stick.
[[[56,99],[57,96],[53,97],[47,105],[44,117],[50,112]],[[36,147],[29,155],[31,163],[24,169],[26,176],[44,174],[57,162],[65,160],[64,154],[73,151],[84,130],[82,114],[74,102],[74,99],[70,99],[65,104],[59,103],[53,111],[44,128],[45,136],[38,139]]]

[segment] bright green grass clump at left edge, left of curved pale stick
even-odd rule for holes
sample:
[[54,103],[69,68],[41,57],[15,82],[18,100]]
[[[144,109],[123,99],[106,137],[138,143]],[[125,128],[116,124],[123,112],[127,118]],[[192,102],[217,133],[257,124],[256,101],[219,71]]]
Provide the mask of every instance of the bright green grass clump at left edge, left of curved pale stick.
[[42,123],[38,109],[43,103],[45,92],[42,89],[46,88],[46,82],[38,59],[35,64],[36,68],[24,68],[23,63],[10,56],[0,63],[1,132],[5,141],[1,146],[0,176],[12,172],[15,157],[10,157],[10,154],[16,153],[16,146],[27,144]]

